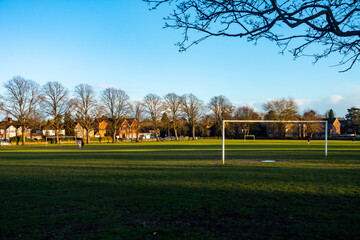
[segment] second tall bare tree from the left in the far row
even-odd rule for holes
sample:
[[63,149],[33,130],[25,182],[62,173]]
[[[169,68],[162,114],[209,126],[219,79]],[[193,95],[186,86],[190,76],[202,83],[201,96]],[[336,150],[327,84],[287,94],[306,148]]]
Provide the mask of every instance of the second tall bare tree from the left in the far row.
[[69,91],[58,82],[47,82],[42,88],[42,106],[47,116],[52,117],[52,127],[55,129],[56,140],[59,141],[59,131],[63,128],[63,118],[69,109]]

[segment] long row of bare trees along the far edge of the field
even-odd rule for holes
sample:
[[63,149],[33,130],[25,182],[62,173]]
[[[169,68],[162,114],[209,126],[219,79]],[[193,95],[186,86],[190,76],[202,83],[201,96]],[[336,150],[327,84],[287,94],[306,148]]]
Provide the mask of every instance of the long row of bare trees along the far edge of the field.
[[[167,129],[168,134],[179,138],[179,130],[195,139],[196,129],[202,135],[221,135],[221,125],[224,119],[243,120],[317,120],[321,119],[315,111],[310,110],[302,116],[298,114],[298,106],[293,99],[275,99],[264,104],[265,113],[256,112],[253,108],[242,106],[235,108],[225,96],[215,96],[208,104],[198,99],[194,94],[179,96],[175,93],[166,94],[163,98],[156,94],[148,94],[142,100],[131,101],[125,91],[117,88],[107,88],[96,94],[94,88],[88,84],[79,84],[73,94],[59,82],[47,82],[40,86],[32,80],[20,76],[13,77],[4,84],[5,94],[0,96],[0,110],[18,121],[22,129],[22,141],[25,143],[25,131],[34,127],[36,123],[49,119],[51,127],[59,131],[71,121],[76,121],[89,132],[93,128],[94,119],[106,118],[112,141],[116,141],[116,134],[121,129],[121,120],[125,116],[136,118],[139,122],[151,123],[159,139],[159,129]],[[349,111],[349,119],[360,125],[359,112]],[[358,122],[357,122],[358,121]],[[141,124],[140,124],[141,125]],[[145,124],[144,124],[145,125]],[[244,134],[249,134],[251,124],[242,126]],[[70,127],[71,129],[71,127]],[[72,125],[73,129],[73,125]],[[315,131],[308,126],[308,131]],[[140,130],[140,129],[138,129]],[[70,130],[71,131],[71,130]],[[281,128],[285,132],[285,126]]]

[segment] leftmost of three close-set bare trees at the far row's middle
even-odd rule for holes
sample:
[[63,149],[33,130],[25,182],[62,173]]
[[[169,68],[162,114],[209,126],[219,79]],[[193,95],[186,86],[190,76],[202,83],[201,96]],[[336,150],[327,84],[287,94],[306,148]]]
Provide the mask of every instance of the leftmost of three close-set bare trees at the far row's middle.
[[155,131],[156,140],[159,141],[159,120],[163,112],[163,103],[156,94],[148,94],[144,97],[143,104],[145,111],[149,114]]

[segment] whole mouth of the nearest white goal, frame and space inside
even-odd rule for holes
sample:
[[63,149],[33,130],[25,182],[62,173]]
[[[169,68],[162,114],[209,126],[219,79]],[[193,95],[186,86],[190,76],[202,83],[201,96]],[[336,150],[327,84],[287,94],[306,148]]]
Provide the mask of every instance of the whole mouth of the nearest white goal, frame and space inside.
[[[249,128],[255,124],[261,127],[261,137]],[[240,136],[238,140],[232,137],[236,134]],[[256,141],[252,141],[255,136]],[[317,140],[312,141],[313,138]],[[225,160],[236,159],[273,162],[327,158],[327,140],[328,122],[323,120],[223,120],[222,162],[225,165]]]

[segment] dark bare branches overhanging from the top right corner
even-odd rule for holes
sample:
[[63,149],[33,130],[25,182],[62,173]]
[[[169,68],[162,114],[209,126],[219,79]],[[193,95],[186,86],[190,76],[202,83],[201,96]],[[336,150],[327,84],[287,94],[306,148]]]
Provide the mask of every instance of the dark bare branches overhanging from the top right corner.
[[[175,4],[165,27],[182,29],[180,50],[212,36],[260,38],[276,42],[282,52],[315,61],[340,53],[350,69],[360,56],[360,2],[357,0],[144,0],[157,8]],[[291,29],[296,29],[293,31]],[[285,31],[286,30],[286,31]],[[200,37],[191,39],[191,33]],[[187,42],[190,40],[190,43]],[[309,50],[306,52],[305,50]]]

